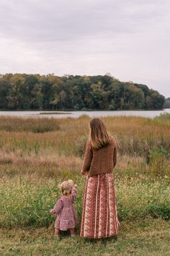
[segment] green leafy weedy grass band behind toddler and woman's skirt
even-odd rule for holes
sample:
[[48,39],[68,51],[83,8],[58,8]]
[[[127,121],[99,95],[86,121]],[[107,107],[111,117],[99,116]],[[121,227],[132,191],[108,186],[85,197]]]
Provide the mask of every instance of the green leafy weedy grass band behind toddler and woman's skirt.
[[[64,174],[63,174],[64,175]],[[63,176],[68,179],[68,176]],[[62,180],[63,180],[62,179]],[[78,184],[76,210],[81,219],[84,178],[74,176]],[[37,179],[36,176],[4,178],[0,185],[0,227],[50,226],[50,216],[57,198],[60,179]],[[120,179],[116,182],[117,208],[120,221],[146,218],[170,218],[170,187],[166,179],[151,182]]]

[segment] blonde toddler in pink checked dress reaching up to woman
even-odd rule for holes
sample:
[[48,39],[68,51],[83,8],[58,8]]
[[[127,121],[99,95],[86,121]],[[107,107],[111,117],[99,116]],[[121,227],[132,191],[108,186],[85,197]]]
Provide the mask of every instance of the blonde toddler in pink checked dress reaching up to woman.
[[58,198],[50,214],[57,214],[55,220],[55,236],[58,236],[59,231],[66,231],[69,229],[71,236],[75,236],[75,227],[78,223],[76,210],[73,202],[76,197],[76,184],[73,184],[71,179],[59,185],[61,189],[61,197]]

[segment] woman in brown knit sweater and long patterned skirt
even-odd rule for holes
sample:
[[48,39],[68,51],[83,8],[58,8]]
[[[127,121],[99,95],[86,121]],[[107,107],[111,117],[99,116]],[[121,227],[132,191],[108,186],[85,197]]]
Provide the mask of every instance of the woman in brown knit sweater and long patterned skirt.
[[87,175],[84,189],[81,237],[116,236],[119,221],[112,170],[117,162],[117,145],[101,119],[89,123],[82,175]]

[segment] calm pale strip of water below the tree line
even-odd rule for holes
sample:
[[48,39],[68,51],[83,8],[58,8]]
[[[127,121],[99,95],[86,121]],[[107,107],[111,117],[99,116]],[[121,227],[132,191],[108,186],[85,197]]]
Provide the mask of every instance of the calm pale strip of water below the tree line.
[[[57,114],[48,114],[48,113]],[[44,114],[42,114],[44,113]],[[35,116],[35,117],[53,117],[53,118],[66,118],[66,117],[79,117],[81,115],[88,115],[89,117],[98,116],[144,116],[155,117],[161,113],[169,113],[170,108],[166,108],[162,111],[0,111],[0,116]]]

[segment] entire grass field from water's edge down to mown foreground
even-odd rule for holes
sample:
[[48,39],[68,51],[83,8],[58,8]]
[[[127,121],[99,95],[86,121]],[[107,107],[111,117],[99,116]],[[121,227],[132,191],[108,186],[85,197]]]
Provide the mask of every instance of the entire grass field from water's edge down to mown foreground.
[[53,236],[49,210],[65,179],[78,184],[81,219],[89,117],[0,117],[0,255],[169,255],[169,115],[103,119],[119,148],[113,174],[121,223],[117,239],[80,239],[80,226],[75,239]]

